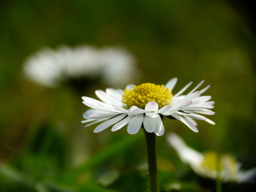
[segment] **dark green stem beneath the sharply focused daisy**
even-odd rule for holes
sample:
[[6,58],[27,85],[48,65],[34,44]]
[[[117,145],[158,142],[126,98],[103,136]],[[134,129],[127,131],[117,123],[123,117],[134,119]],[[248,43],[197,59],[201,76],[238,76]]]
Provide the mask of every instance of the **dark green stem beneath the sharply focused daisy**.
[[147,141],[150,192],[159,192],[156,163],[156,134],[145,131],[145,137]]

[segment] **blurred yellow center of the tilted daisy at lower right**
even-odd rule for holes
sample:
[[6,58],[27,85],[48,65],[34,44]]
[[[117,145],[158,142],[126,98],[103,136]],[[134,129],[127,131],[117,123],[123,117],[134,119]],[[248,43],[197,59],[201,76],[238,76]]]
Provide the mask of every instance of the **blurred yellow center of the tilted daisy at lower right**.
[[211,171],[228,172],[230,180],[234,179],[237,173],[236,159],[227,154],[218,155],[216,152],[205,152],[201,165]]

